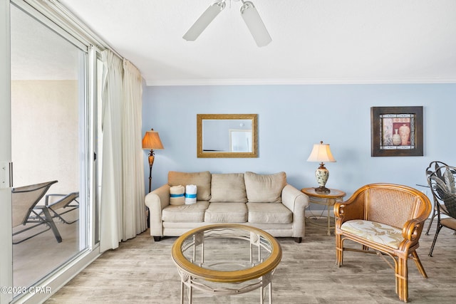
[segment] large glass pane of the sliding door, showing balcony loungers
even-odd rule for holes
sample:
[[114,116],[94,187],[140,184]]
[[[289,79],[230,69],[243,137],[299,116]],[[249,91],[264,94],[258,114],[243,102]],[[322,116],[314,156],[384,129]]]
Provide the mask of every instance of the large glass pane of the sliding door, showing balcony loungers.
[[85,51],[11,6],[16,287],[37,283],[88,246],[85,68]]

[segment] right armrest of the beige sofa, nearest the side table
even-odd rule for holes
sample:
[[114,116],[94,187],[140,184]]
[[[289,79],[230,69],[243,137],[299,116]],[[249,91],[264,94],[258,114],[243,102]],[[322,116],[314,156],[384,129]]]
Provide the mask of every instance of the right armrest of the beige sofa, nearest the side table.
[[309,206],[309,196],[291,184],[286,184],[281,196],[282,204],[293,212],[293,237],[302,238],[305,235],[304,209]]

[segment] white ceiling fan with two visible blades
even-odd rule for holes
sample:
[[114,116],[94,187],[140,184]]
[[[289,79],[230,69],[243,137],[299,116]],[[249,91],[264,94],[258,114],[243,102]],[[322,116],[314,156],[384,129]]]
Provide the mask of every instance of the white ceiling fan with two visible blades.
[[[239,0],[237,0],[239,1]],[[257,46],[267,46],[271,41],[272,38],[269,36],[269,33],[264,26],[261,17],[258,14],[257,9],[255,8],[252,1],[244,1],[241,5],[241,16],[244,19],[244,22],[247,24],[247,28],[249,28],[250,33],[254,37]],[[202,13],[201,16],[197,19],[197,21],[190,27],[190,29],[185,33],[182,37],[187,41],[195,41],[196,38],[204,31],[205,28],[211,23],[215,17],[225,8],[226,0],[217,0],[214,1],[207,9]]]

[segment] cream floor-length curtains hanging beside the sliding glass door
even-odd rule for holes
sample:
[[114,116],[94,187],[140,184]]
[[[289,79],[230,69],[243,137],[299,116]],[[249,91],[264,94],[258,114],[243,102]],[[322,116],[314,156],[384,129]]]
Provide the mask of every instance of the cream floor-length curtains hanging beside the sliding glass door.
[[103,51],[103,163],[100,251],[146,229],[142,167],[142,79],[139,70]]

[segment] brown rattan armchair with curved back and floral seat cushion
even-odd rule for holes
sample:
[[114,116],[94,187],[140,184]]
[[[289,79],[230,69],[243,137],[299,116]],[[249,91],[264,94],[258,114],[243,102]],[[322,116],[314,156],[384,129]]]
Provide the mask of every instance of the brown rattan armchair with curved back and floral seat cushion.
[[[421,231],[432,209],[430,200],[416,189],[398,184],[368,184],[348,199],[334,205],[336,216],[336,265],[342,266],[343,251],[377,253],[394,261],[395,292],[408,300],[408,258],[427,278],[418,258]],[[347,248],[345,240],[362,248]],[[386,260],[389,262],[388,260]]]

